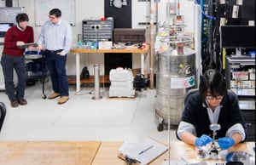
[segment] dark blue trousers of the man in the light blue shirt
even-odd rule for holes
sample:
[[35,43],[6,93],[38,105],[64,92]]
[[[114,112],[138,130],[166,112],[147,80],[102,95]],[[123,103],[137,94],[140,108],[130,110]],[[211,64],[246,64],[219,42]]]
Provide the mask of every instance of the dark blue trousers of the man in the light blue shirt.
[[68,96],[68,82],[66,73],[67,54],[61,56],[56,52],[44,52],[46,65],[49,69],[49,76],[52,83],[52,88],[55,93],[61,96]]

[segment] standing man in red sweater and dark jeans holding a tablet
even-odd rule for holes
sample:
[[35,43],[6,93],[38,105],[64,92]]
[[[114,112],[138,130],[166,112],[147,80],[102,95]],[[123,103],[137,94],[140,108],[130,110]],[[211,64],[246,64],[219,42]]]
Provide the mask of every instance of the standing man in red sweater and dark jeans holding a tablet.
[[[25,43],[34,42],[32,26],[27,26],[28,15],[20,13],[16,15],[17,25],[9,28],[4,36],[3,55],[1,64],[6,93],[12,107],[26,105],[24,99],[26,88],[26,61],[24,56],[25,48],[19,48]],[[28,49],[32,49],[32,46]],[[14,71],[18,77],[18,85],[15,88]]]

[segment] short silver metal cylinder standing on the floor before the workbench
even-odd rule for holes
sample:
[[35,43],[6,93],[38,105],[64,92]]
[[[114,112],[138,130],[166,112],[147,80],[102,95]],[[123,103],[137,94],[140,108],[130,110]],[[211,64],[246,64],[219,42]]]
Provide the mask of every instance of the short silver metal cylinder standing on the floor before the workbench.
[[100,95],[100,65],[94,65],[94,97],[92,100],[102,99]]

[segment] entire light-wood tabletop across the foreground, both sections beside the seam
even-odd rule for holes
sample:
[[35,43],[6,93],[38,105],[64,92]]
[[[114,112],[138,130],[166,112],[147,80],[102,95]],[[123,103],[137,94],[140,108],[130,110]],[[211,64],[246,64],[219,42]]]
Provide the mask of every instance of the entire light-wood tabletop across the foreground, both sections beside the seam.
[[[122,144],[121,141],[0,141],[0,164],[125,165],[125,161],[119,158]],[[193,145],[172,141],[170,147],[170,154],[166,151],[150,165],[160,165],[169,157],[172,161],[180,161],[182,157],[189,161],[196,159]],[[238,144],[229,151],[248,151],[247,143]]]

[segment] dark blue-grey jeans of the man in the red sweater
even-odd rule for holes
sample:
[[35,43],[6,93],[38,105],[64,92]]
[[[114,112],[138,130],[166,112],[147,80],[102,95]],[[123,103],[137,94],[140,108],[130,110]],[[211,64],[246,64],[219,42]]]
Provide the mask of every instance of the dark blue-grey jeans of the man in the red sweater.
[[[5,90],[10,101],[24,98],[26,88],[26,61],[24,55],[11,56],[3,54],[1,58]],[[18,77],[18,85],[15,88],[14,71]]]

